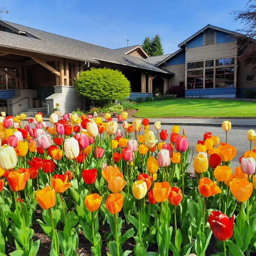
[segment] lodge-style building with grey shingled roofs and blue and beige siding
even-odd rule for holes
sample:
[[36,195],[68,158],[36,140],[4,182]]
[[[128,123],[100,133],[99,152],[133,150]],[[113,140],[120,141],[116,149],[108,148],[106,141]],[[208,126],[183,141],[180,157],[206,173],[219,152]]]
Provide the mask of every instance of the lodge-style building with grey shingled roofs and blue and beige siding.
[[140,45],[109,49],[0,20],[0,110],[49,114],[55,103],[62,113],[84,109],[74,85],[79,72],[91,67],[122,71],[131,99],[175,85],[185,86],[186,97],[244,97],[256,80],[237,63],[234,35],[207,25],[173,54],[148,57]]

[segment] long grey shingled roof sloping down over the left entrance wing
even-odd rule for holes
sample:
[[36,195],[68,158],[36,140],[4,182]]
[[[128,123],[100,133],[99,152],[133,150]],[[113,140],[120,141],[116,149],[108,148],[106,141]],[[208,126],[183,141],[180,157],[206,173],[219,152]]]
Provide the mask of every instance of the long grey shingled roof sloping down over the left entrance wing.
[[0,31],[0,46],[2,47],[37,52],[80,61],[89,61],[92,63],[104,61],[165,74],[173,74],[168,70],[155,67],[155,65],[149,63],[146,59],[138,58],[129,54],[123,54],[118,50],[113,50],[65,36],[33,29],[9,21],[0,21],[6,26],[11,26],[18,31],[29,33],[35,37],[33,38]]

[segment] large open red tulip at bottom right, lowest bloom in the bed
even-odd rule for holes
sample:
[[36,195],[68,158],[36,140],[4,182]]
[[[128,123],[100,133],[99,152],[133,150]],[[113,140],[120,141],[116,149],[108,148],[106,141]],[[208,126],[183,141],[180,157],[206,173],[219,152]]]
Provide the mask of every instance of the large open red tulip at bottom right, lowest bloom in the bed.
[[212,233],[219,241],[232,237],[234,220],[235,214],[228,219],[227,215],[220,211],[212,211],[208,218]]

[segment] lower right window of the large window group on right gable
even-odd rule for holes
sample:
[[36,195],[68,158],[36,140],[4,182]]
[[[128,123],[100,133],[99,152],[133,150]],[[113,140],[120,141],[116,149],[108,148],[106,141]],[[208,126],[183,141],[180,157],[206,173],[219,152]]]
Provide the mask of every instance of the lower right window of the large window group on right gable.
[[234,87],[235,67],[216,68],[216,88]]

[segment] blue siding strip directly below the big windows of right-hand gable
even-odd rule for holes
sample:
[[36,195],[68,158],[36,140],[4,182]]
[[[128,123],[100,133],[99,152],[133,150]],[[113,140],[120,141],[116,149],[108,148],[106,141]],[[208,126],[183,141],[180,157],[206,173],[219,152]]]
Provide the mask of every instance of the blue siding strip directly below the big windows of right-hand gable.
[[230,88],[185,90],[186,96],[224,95],[224,94],[236,94],[236,88],[230,87]]

